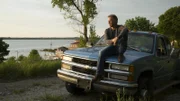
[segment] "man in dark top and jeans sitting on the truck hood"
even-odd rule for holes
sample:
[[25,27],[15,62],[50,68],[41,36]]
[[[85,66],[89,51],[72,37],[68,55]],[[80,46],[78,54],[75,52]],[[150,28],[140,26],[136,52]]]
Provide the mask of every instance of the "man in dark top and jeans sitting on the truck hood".
[[93,82],[102,79],[106,57],[118,54],[118,61],[120,63],[125,59],[123,54],[127,49],[128,29],[122,25],[117,25],[117,23],[118,18],[116,15],[111,14],[108,16],[110,27],[105,30],[105,39],[108,46],[99,51],[97,71]]

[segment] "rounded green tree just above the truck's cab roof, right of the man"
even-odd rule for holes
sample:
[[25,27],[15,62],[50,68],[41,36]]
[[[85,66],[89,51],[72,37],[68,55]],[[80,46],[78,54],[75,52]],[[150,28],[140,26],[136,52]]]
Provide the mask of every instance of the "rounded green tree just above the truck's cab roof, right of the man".
[[125,22],[125,26],[127,26],[130,30],[139,30],[139,31],[157,31],[154,26],[155,23],[150,22],[145,17],[135,17],[132,19],[128,19]]

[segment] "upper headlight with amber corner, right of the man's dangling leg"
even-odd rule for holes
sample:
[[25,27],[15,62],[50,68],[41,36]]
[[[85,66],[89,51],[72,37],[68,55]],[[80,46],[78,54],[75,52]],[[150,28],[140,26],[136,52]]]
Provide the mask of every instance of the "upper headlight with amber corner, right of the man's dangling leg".
[[129,72],[134,71],[133,66],[125,66],[125,65],[120,65],[120,64],[111,64],[111,68],[117,69],[117,70],[129,71]]

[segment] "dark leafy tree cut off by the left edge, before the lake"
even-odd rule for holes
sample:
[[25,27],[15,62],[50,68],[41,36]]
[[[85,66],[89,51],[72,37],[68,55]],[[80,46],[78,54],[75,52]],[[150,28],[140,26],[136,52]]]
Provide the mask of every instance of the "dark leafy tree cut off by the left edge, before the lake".
[[9,54],[9,51],[7,50],[9,45],[3,41],[3,39],[0,39],[0,63],[5,60],[4,56],[7,56]]

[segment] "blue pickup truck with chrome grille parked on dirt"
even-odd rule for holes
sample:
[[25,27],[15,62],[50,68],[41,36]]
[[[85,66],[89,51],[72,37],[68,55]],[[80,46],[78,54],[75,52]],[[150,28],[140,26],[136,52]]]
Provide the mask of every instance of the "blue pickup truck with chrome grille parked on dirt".
[[106,47],[104,36],[92,47],[67,50],[63,54],[57,76],[65,81],[71,94],[91,90],[147,97],[179,84],[179,51],[171,46],[168,37],[150,32],[129,32],[125,60],[106,57],[104,78],[92,83],[97,70],[99,51]]

